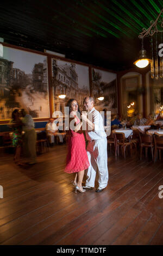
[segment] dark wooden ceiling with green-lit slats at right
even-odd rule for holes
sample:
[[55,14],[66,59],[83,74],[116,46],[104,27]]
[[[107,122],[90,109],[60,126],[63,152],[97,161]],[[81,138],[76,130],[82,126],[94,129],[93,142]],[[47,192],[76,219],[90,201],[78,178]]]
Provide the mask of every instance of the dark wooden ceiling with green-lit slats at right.
[[[133,66],[138,38],[163,7],[158,0],[26,0],[0,2],[0,37],[33,50],[123,70]],[[144,42],[146,50],[148,44]]]

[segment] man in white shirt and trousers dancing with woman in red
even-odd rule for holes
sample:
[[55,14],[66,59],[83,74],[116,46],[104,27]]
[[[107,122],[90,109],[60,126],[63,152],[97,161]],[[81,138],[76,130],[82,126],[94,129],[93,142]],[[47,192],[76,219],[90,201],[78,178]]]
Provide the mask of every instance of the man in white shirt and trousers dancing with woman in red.
[[92,97],[85,97],[84,108],[86,114],[82,114],[83,121],[86,121],[86,139],[89,141],[86,151],[90,166],[87,169],[87,179],[84,188],[95,187],[96,171],[98,168],[99,179],[96,192],[101,192],[108,185],[108,155],[107,139],[103,126],[102,115],[95,109]]

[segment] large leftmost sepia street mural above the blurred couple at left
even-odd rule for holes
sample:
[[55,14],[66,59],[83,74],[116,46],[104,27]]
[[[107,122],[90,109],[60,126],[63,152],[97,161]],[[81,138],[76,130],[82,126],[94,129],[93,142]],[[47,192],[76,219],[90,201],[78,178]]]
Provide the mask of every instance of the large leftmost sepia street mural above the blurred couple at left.
[[11,119],[15,108],[33,118],[49,117],[47,57],[3,47],[0,58],[0,119]]

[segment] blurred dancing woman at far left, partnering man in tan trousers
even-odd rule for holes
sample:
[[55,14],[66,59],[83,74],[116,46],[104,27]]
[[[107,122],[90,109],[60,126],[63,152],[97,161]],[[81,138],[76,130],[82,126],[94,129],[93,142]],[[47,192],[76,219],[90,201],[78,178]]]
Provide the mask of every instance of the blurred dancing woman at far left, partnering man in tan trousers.
[[22,121],[18,109],[12,112],[12,119],[9,126],[12,128],[12,146],[15,148],[14,162],[18,165],[21,164],[21,148],[22,148]]

